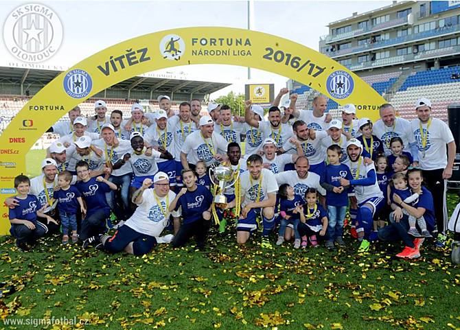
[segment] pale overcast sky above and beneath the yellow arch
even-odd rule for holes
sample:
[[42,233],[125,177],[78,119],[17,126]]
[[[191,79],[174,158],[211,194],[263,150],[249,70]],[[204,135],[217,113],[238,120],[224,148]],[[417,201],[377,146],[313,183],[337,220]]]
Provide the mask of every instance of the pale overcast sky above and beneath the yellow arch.
[[[52,8],[64,29],[58,53],[44,64],[70,67],[76,62],[123,40],[177,27],[247,27],[246,1],[36,1]],[[0,21],[19,5],[34,1],[0,1]],[[318,50],[326,25],[391,4],[391,1],[254,1],[253,30],[275,34]],[[3,35],[3,33],[2,33]],[[3,38],[2,38],[3,39]],[[2,40],[3,41],[3,40]],[[19,62],[0,44],[0,64]],[[192,65],[168,71],[183,71],[188,79],[233,83],[228,91],[244,93],[247,69],[227,65]],[[252,70],[253,83],[275,83],[275,91],[287,78]]]

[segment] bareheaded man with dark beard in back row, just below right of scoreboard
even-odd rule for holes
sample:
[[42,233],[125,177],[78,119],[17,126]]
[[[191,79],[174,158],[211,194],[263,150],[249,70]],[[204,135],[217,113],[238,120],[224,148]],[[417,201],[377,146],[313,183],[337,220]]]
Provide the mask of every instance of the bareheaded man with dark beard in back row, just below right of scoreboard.
[[[246,107],[251,106],[251,100],[245,102]],[[251,117],[251,113],[246,110],[244,119],[250,126],[258,128],[262,132],[262,138],[270,137],[275,140],[277,148],[281,148],[290,137],[292,137],[292,127],[287,123],[281,123],[281,112],[277,106],[268,109],[268,121],[256,121]]]

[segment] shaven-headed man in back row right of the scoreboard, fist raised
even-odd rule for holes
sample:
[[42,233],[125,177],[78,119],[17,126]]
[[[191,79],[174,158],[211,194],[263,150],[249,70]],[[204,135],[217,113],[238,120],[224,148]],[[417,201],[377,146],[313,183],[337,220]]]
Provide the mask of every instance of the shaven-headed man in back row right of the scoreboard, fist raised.
[[[294,96],[295,94],[292,94]],[[297,95],[295,95],[297,99]],[[332,120],[329,113],[325,113],[327,108],[327,98],[323,95],[315,96],[312,103],[312,110],[296,110],[292,109],[292,115],[307,123],[308,128],[314,130],[327,130],[328,123]]]

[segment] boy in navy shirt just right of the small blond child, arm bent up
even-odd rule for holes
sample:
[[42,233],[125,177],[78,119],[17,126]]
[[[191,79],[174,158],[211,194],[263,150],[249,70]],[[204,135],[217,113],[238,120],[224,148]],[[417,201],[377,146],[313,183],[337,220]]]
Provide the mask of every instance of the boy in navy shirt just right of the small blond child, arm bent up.
[[106,230],[106,219],[110,215],[110,207],[106,201],[106,193],[117,190],[112,182],[97,176],[91,178],[89,165],[85,161],[76,164],[77,175],[80,181],[76,188],[82,193],[84,202],[87,204],[87,215],[82,220],[80,238],[83,240],[83,248],[93,244],[98,235]]

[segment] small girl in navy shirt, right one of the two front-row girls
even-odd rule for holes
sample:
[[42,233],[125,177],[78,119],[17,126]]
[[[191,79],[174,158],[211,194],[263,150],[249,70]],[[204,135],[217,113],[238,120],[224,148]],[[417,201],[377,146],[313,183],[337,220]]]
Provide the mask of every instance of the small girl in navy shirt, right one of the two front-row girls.
[[281,200],[279,205],[281,226],[279,227],[278,240],[276,245],[283,244],[286,226],[288,226],[288,224],[292,224],[295,234],[294,248],[300,248],[300,235],[299,231],[297,231],[297,226],[299,226],[300,222],[300,210],[303,204],[303,198],[301,198],[299,195],[296,195],[294,188],[292,188],[287,183],[279,186],[278,193]]

